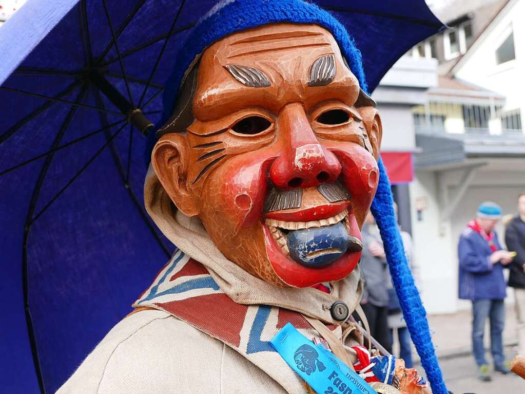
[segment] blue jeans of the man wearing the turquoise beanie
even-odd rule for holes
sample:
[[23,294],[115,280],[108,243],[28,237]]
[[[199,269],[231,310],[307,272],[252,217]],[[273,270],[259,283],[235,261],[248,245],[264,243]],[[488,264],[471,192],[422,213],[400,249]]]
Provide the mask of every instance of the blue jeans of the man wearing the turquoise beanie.
[[502,299],[477,299],[472,301],[472,351],[479,365],[487,364],[483,334],[487,317],[490,320],[490,351],[494,364],[500,366],[505,361],[501,333],[505,327],[505,306]]

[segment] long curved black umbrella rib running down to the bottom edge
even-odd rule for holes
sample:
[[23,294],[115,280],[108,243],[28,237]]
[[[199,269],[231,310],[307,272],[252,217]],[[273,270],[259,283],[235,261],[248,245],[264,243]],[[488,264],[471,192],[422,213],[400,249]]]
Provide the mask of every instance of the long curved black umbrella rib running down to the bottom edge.
[[[84,96],[86,95],[86,91],[87,88],[83,86],[82,90],[77,96],[77,102],[80,102],[84,98]],[[68,114],[66,115],[66,118],[64,119],[64,122],[62,122],[62,125],[57,133],[57,136],[55,137],[55,140],[53,141],[52,148],[56,148],[60,143],[62,137],[64,137],[64,134],[67,128],[69,127],[71,119],[75,115],[76,110],[77,107],[72,107],[69,110]],[[51,165],[52,160],[53,153],[50,153],[47,155],[46,160],[42,165],[42,168],[40,169],[40,173],[38,174],[38,179],[35,183],[35,188],[33,189],[33,194],[31,195],[31,200],[29,203],[29,209],[27,211],[26,222],[24,226],[24,239],[22,243],[22,288],[24,293],[24,307],[26,313],[27,331],[29,336],[29,343],[31,345],[31,354],[33,355],[33,362],[35,365],[35,371],[38,379],[38,386],[40,387],[40,391],[44,394],[46,393],[46,388],[44,385],[44,376],[42,375],[42,370],[40,368],[40,359],[38,357],[38,347],[36,344],[33,318],[31,317],[31,313],[29,310],[29,282],[27,278],[27,243],[29,239],[29,230],[31,229],[32,223],[31,216],[33,216],[33,212],[35,211],[36,203],[38,201],[38,195],[40,194],[40,189],[44,184],[44,178],[46,177],[47,171],[49,169],[49,166]]]

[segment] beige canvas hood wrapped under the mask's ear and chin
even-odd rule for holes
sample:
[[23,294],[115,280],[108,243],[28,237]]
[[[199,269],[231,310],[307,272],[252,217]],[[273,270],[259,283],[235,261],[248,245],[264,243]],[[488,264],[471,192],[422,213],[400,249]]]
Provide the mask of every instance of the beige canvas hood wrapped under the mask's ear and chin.
[[326,323],[338,323],[330,314],[331,305],[343,301],[353,311],[361,300],[359,267],[342,281],[332,283],[331,294],[310,287],[281,288],[248,274],[218,250],[197,217],[187,217],[177,210],[151,165],[144,183],[144,204],[167,239],[202,263],[222,291],[238,304],[279,306]]

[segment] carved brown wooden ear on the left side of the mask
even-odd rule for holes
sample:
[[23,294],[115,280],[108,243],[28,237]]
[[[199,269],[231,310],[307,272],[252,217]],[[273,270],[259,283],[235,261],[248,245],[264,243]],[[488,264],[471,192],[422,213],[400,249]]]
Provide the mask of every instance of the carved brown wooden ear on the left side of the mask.
[[196,216],[199,213],[198,206],[186,183],[189,151],[183,134],[165,134],[153,148],[151,163],[177,208],[186,216]]

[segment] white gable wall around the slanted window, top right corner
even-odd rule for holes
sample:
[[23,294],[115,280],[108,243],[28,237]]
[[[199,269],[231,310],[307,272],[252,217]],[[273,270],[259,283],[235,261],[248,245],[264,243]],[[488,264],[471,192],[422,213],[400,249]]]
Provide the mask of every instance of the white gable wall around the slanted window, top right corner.
[[[511,0],[472,45],[467,55],[454,69],[457,78],[502,94],[507,99],[506,110],[520,108],[525,118],[525,0]],[[496,64],[495,51],[511,26],[516,59]]]

